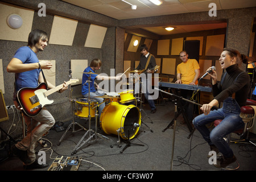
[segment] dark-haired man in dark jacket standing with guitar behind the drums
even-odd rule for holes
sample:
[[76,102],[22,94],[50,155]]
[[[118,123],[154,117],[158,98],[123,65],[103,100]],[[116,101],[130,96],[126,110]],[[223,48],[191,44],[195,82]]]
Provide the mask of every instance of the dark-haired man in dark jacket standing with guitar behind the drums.
[[[145,69],[146,73],[155,73],[155,70],[152,69],[156,66],[155,57],[151,53],[148,52],[148,47],[146,46],[146,44],[141,45],[140,51],[141,51],[141,59],[139,60],[139,65],[136,69],[137,70]],[[151,81],[151,80],[147,80],[146,84],[149,84],[150,83],[149,81]],[[145,83],[143,83],[143,84],[145,84]],[[146,98],[148,104],[150,105],[151,113],[154,114],[156,112],[155,102],[154,102],[154,100],[148,98],[149,95],[150,94],[148,93],[148,90],[146,89],[146,93],[144,93],[144,97]]]

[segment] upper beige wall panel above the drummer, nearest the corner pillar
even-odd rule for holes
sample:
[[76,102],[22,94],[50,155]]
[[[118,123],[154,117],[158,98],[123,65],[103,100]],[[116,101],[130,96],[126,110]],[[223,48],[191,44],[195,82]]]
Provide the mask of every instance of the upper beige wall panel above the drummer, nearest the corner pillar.
[[101,48],[108,28],[91,24],[84,47]]

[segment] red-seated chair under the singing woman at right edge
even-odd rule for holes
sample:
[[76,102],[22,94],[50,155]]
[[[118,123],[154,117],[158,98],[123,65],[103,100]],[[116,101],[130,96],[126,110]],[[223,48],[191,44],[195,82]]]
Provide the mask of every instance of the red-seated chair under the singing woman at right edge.
[[[241,113],[240,113],[240,117],[243,119],[245,126],[241,129],[233,132],[233,133],[240,135],[240,140],[232,141],[231,140],[232,133],[230,133],[226,138],[226,142],[228,142],[228,144],[230,144],[231,142],[234,142],[234,143],[249,142],[251,144],[254,144],[253,142],[250,141],[249,130],[254,125],[254,117],[255,117],[255,113],[256,113],[255,110],[256,110],[256,101],[247,99],[246,106],[241,107]],[[216,119],[214,121],[214,126],[217,126],[221,121],[222,121],[222,119]],[[243,139],[245,137],[246,133],[247,133],[246,139]],[[234,168],[235,170],[240,167],[238,162],[237,162],[237,164],[238,164],[238,167]],[[230,170],[234,170],[234,169],[230,169]]]

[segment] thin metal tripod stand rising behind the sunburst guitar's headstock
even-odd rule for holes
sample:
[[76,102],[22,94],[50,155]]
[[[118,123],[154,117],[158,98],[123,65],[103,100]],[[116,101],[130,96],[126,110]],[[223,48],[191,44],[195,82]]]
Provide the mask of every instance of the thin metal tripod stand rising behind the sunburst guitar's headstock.
[[[69,69],[69,79],[70,78],[72,78],[72,71],[71,71],[71,69]],[[67,132],[71,128],[71,126],[72,126],[72,133],[75,133],[75,132],[80,131],[80,130],[86,130],[84,126],[80,125],[80,123],[75,122],[75,111],[73,110],[73,102],[76,102],[76,100],[72,99],[72,88],[71,88],[71,85],[69,86],[69,101],[71,102],[71,111],[72,111],[72,114],[73,114],[73,119],[72,119],[72,123],[69,124],[67,130],[65,131],[65,133],[60,138],[58,146],[60,145],[61,141],[63,140],[63,138],[65,137],[65,135],[67,134]],[[75,125],[78,125],[79,127],[81,127],[81,129],[75,130]]]

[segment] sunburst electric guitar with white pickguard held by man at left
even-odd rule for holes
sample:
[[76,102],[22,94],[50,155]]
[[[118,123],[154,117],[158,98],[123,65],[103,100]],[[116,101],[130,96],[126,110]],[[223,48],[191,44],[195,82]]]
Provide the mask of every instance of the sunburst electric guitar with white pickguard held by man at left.
[[[67,85],[79,81],[78,78],[71,78]],[[38,115],[43,106],[53,103],[47,96],[63,88],[63,84],[47,90],[46,83],[42,82],[36,88],[24,87],[17,93],[17,101],[23,113],[29,117]]]

